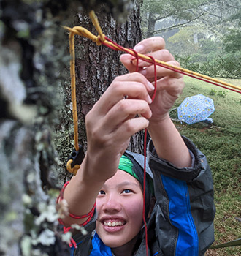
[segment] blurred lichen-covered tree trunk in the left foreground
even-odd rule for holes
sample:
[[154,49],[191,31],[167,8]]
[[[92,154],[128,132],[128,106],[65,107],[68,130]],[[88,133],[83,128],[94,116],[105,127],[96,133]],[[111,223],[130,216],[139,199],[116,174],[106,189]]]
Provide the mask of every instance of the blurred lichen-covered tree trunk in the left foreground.
[[1,255],[69,255],[50,192],[59,183],[51,138],[69,60],[61,25],[72,11],[53,14],[49,2],[0,1]]

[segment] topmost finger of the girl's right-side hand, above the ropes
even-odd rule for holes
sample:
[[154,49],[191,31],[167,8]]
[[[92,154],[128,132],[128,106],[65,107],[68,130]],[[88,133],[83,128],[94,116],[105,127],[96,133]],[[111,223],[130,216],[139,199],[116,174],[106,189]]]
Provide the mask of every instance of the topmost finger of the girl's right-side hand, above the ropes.
[[138,53],[147,54],[165,48],[165,41],[162,37],[150,37],[139,42],[135,47]]

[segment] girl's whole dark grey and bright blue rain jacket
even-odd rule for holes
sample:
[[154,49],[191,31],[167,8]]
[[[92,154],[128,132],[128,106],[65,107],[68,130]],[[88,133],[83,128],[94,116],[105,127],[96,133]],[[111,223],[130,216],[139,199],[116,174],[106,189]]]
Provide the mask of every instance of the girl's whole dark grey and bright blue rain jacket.
[[[183,137],[193,155],[192,167],[177,168],[157,157],[153,143],[148,148],[148,173],[153,173],[156,205],[148,220],[149,256],[201,256],[213,244],[213,178],[207,159],[191,140]],[[142,165],[142,156],[133,154]],[[139,159],[142,158],[142,161]],[[150,174],[151,175],[151,174]],[[77,249],[74,256],[112,256],[95,230],[97,213],[85,226],[88,235],[74,236]],[[145,256],[145,232],[134,256]]]

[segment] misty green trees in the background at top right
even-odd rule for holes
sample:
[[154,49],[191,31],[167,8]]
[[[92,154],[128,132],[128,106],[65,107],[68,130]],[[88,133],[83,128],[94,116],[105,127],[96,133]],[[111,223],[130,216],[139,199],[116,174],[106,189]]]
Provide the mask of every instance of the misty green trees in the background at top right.
[[160,35],[180,64],[212,77],[240,78],[238,0],[145,0],[145,36]]

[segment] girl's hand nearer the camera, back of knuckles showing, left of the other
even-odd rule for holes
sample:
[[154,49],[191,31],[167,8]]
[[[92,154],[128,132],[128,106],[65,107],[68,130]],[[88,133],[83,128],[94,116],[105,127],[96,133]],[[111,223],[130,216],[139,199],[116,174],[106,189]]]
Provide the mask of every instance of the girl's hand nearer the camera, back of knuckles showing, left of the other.
[[153,89],[137,72],[119,76],[87,114],[85,164],[90,178],[99,182],[115,175],[131,135],[148,127],[152,116],[149,93]]

